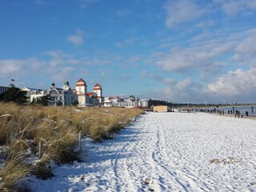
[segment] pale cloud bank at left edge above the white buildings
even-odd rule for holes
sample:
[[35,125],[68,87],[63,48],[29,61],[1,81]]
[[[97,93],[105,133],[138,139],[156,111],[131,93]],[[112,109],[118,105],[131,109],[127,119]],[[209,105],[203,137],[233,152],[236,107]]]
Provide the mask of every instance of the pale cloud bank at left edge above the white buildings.
[[[50,56],[50,58],[46,60],[39,60],[38,58],[0,60],[0,77],[18,79],[37,77],[48,80],[50,78],[61,82],[70,77],[74,67],[69,66],[67,61],[72,57],[71,55],[60,50],[46,51],[45,55]],[[31,84],[33,83],[38,82],[31,82]]]

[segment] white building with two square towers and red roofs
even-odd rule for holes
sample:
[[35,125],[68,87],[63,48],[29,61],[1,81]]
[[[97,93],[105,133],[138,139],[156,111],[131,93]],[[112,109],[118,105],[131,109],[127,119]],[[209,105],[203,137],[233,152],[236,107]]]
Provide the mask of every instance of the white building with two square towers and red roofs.
[[86,82],[79,78],[75,86],[75,93],[78,95],[79,106],[102,106],[102,86],[95,84],[93,92],[87,92]]

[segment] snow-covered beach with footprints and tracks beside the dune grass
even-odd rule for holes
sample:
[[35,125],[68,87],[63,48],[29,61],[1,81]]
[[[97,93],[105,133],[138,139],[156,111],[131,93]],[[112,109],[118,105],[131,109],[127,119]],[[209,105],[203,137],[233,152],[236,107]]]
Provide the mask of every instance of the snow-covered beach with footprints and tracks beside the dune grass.
[[256,191],[256,123],[213,114],[147,113],[82,158],[30,178],[33,191]]

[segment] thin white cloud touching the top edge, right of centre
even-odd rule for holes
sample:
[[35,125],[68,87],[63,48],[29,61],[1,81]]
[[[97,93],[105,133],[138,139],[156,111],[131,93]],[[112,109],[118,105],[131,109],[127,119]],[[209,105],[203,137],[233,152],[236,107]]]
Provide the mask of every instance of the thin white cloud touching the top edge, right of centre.
[[194,21],[206,14],[207,10],[199,7],[194,0],[170,0],[164,6],[167,13],[166,26],[173,28],[181,22]]

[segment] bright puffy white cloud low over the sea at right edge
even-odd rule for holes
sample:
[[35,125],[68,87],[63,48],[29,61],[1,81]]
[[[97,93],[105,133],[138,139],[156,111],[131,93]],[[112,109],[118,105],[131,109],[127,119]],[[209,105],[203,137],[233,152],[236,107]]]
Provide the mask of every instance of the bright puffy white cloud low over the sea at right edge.
[[224,97],[245,97],[256,93],[256,67],[249,70],[230,71],[208,84],[209,92]]

